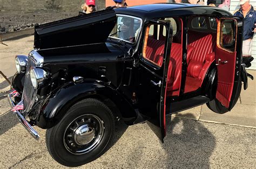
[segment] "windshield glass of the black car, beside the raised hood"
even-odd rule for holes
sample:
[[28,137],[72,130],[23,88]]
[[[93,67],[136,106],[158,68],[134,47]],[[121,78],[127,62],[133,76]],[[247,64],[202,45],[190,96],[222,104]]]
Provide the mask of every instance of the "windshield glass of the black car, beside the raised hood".
[[141,28],[142,19],[126,15],[117,15],[117,23],[109,37],[134,43],[138,38]]

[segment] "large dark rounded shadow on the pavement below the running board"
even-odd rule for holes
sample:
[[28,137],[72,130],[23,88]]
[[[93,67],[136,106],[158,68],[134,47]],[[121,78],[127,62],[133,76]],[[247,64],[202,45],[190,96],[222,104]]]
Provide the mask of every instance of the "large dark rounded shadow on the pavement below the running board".
[[[193,114],[190,116],[193,116]],[[172,118],[172,121],[171,116],[166,118],[167,133],[164,144],[161,144],[163,150],[159,150],[159,154],[155,155],[156,159],[152,159],[150,166],[167,168],[210,167],[209,158],[215,148],[213,134],[205,128],[202,122],[180,117]],[[130,157],[127,157],[127,159],[132,159],[143,146],[143,142],[134,145],[133,152],[130,153]],[[138,158],[133,163],[138,164],[141,160]]]

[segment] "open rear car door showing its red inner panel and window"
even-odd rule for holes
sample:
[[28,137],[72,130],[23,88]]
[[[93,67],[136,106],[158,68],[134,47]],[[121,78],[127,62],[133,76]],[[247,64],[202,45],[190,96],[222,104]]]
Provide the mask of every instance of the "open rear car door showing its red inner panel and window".
[[216,98],[228,110],[234,107],[235,96],[239,96],[242,20],[240,18],[220,18],[217,28],[215,61],[218,71]]

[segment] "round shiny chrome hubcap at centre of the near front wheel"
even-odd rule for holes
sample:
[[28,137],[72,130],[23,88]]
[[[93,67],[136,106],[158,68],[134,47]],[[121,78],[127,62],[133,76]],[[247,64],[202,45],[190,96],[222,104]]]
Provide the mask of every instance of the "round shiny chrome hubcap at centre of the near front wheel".
[[92,141],[95,137],[95,129],[85,124],[75,131],[74,139],[78,145],[85,145]]

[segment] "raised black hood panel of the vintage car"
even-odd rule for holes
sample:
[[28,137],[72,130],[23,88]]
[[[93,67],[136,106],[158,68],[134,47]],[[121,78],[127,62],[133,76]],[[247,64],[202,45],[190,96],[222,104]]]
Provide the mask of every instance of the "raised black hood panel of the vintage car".
[[34,48],[104,43],[116,20],[114,10],[102,10],[35,26]]

